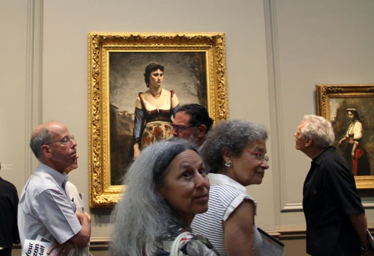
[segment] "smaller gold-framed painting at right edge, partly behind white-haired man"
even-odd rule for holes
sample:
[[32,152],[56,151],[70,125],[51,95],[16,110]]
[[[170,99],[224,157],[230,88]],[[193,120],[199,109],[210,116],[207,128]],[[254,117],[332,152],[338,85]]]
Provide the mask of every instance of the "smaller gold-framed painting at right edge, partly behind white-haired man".
[[330,120],[359,189],[374,188],[374,84],[316,85],[318,115]]

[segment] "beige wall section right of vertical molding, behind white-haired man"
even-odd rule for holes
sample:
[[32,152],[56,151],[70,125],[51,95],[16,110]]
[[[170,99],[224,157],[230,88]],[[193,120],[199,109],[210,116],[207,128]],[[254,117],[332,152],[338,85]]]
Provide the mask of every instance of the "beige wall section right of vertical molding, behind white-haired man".
[[[293,134],[304,114],[317,113],[316,84],[374,83],[373,10],[370,0],[269,3],[265,20],[272,42],[268,64],[269,86],[274,90],[271,127],[276,137],[271,144],[278,162],[272,165],[278,192],[274,201],[277,230],[304,229],[299,213],[311,160],[295,150]],[[360,194],[368,221],[374,223],[373,193]]]

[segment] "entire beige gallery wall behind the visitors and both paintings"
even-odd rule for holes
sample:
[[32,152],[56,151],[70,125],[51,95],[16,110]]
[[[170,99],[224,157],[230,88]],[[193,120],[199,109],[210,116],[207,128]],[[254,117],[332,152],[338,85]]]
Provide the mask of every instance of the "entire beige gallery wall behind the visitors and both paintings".
[[[224,32],[229,117],[270,131],[270,169],[259,186],[256,223],[284,236],[303,233],[302,183],[310,159],[294,149],[305,113],[316,113],[315,85],[374,83],[372,0],[7,0],[0,3],[1,176],[17,186],[37,166],[33,127],[58,120],[78,143],[71,180],[88,207],[87,34]],[[373,193],[362,193],[374,222]],[[110,235],[110,209],[89,209],[93,241]],[[304,248],[303,238],[288,240]],[[292,250],[289,250],[292,252]],[[297,251],[295,251],[297,252]],[[296,255],[296,254],[287,254]]]

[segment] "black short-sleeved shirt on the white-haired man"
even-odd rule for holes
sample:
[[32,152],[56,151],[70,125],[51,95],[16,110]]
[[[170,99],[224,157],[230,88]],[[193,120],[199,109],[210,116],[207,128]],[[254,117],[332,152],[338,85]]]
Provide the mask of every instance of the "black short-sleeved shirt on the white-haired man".
[[355,178],[335,147],[312,161],[303,188],[306,251],[312,256],[359,256],[360,240],[349,214],[364,213]]

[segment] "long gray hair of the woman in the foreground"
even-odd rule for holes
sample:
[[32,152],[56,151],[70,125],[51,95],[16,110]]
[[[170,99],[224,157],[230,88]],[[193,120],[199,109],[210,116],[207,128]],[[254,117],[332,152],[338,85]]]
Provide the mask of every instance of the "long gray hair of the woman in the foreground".
[[164,184],[171,161],[187,149],[197,152],[186,140],[157,142],[131,164],[123,182],[126,192],[111,217],[113,256],[143,255],[143,250],[153,255],[157,238],[167,233],[170,220],[178,221],[157,188]]

